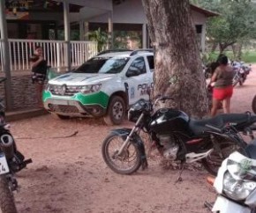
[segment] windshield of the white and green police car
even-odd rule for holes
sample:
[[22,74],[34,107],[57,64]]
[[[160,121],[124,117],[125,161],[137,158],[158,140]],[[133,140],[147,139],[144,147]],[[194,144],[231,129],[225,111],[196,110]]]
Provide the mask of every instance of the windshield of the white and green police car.
[[124,66],[128,60],[128,57],[94,57],[83,63],[74,72],[116,74],[124,69]]

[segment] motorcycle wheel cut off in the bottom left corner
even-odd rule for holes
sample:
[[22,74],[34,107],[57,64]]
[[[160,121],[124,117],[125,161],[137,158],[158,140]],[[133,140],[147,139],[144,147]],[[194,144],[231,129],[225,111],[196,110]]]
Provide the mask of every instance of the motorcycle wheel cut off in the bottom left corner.
[[4,175],[0,176],[0,212],[17,213],[11,188]]

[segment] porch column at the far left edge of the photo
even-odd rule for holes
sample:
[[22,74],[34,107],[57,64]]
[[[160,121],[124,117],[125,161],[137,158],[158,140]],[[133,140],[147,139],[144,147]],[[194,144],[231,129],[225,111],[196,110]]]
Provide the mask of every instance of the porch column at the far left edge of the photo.
[[[3,51],[3,63],[4,63],[4,75],[7,78],[5,81],[5,101],[6,110],[12,109],[12,95],[11,95],[11,64],[10,64],[10,52],[7,34],[7,24],[5,18],[5,1],[0,1],[0,33],[2,40],[2,51]],[[1,51],[1,50],[0,50]]]

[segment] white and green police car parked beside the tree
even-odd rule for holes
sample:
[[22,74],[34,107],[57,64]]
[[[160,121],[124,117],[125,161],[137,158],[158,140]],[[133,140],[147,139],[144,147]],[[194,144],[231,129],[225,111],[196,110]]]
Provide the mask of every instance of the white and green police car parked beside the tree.
[[44,107],[59,118],[103,116],[107,124],[120,124],[129,106],[148,99],[153,70],[151,50],[102,52],[78,69],[49,80]]

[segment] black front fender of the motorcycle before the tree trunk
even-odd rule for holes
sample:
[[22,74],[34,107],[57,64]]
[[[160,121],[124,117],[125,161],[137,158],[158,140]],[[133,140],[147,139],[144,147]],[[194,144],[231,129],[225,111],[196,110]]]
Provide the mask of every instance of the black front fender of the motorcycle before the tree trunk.
[[[129,128],[113,129],[111,130],[111,134],[116,136],[122,136],[123,139],[125,140],[126,137],[129,136],[131,131],[132,129],[129,129]],[[139,149],[141,166],[142,166],[142,169],[144,170],[145,168],[147,168],[146,151],[145,151],[144,143],[137,133],[133,133],[132,143],[134,143]]]

